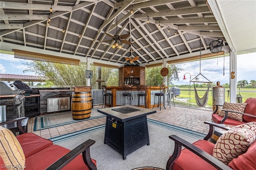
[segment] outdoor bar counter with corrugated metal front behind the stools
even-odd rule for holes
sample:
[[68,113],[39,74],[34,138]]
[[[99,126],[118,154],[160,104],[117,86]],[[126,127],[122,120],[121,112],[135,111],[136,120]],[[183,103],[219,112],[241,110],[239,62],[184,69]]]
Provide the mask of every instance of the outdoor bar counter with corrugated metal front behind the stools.
[[[167,87],[166,87],[167,88]],[[113,99],[112,99],[112,106],[120,106],[122,105],[123,98],[122,98],[122,87],[121,86],[110,86],[107,87],[107,93],[112,93],[113,94]],[[132,99],[132,105],[138,105],[138,92],[137,92],[137,87],[132,86],[131,90],[133,99]],[[154,105],[154,94],[155,93],[160,93],[160,87],[158,86],[148,86],[146,90],[146,106],[147,108],[152,108]],[[125,101],[125,103],[128,103],[128,101]],[[140,105],[143,105],[144,100],[140,100]]]

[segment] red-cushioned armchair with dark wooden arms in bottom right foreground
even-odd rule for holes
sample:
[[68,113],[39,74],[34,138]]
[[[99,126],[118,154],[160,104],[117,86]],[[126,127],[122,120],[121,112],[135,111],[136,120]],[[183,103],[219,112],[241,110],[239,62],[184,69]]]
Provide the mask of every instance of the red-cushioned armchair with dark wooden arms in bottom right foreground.
[[[214,150],[214,144],[208,142],[208,139],[214,132],[214,127],[219,127],[225,130],[229,128],[212,123],[204,122],[210,125],[210,130],[204,140],[198,140],[193,144],[190,144],[186,140],[179,138],[176,135],[169,136],[174,140],[175,148],[172,156],[170,156],[166,170],[254,170],[256,167],[255,153],[256,142],[252,143],[248,150],[234,158],[228,165],[224,164],[220,160],[212,156]],[[182,150],[182,146],[185,148]]]

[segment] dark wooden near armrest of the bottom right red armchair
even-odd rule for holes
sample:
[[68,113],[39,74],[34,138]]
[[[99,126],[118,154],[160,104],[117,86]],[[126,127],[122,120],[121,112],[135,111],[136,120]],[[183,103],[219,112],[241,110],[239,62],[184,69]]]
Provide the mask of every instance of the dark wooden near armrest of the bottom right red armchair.
[[200,158],[204,159],[206,162],[208,162],[218,170],[232,170],[232,168],[228,167],[226,164],[224,164],[220,160],[214,158],[212,155],[204,152],[203,150],[187,142],[186,140],[183,140],[182,138],[176,135],[170,135],[169,138],[174,140],[175,148],[172,156],[168,159],[168,162],[166,164],[166,170],[172,170],[174,162],[180,156],[182,146],[184,146],[194,154],[198,155]]

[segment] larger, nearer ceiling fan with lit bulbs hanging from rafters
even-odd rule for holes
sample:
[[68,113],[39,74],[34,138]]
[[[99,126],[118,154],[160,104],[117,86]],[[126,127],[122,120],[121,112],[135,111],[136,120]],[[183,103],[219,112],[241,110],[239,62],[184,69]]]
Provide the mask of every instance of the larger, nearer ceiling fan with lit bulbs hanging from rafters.
[[[129,34],[123,34],[121,36],[117,35],[117,17],[116,17],[116,35],[112,36],[111,34],[108,34],[108,33],[105,33],[105,34],[110,36],[111,38],[113,38],[113,40],[115,41],[113,43],[113,45],[111,45],[112,48],[119,48],[119,49],[121,49],[122,45],[120,45],[121,44],[120,42],[132,45],[131,42],[129,42],[127,40],[124,40],[124,39],[126,39],[126,38],[128,38],[130,36]],[[102,42],[110,42],[110,41],[113,41],[113,40],[105,40],[105,41],[102,41]]]

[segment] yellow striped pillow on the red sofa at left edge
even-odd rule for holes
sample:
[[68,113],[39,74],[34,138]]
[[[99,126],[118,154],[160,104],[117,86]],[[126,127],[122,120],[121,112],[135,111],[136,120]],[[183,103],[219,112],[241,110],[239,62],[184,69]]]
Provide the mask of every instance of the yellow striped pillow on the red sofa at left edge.
[[0,127],[0,156],[8,170],[23,170],[25,168],[25,155],[14,134],[6,128]]

